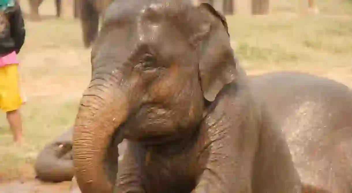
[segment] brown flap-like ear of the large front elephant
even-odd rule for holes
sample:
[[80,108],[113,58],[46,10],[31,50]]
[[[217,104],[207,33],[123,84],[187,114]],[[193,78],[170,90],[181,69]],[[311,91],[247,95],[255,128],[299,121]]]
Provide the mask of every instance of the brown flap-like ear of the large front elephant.
[[199,78],[203,95],[206,100],[214,101],[220,90],[236,79],[236,60],[225,17],[208,3],[197,8],[203,21],[191,39],[200,50]]

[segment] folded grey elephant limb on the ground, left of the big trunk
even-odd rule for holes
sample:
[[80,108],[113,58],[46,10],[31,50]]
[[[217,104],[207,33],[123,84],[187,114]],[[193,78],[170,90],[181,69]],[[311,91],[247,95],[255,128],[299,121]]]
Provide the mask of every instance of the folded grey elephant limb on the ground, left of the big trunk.
[[72,132],[73,129],[69,129],[39,153],[34,164],[39,180],[61,182],[70,181],[73,178]]

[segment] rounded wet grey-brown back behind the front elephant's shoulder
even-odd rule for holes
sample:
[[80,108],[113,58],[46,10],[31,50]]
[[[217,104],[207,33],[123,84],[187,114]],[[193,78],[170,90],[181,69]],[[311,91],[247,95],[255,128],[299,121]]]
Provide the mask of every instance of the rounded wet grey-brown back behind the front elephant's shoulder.
[[251,80],[253,95],[266,103],[285,134],[301,181],[311,188],[305,191],[351,193],[351,90],[298,72],[269,73]]

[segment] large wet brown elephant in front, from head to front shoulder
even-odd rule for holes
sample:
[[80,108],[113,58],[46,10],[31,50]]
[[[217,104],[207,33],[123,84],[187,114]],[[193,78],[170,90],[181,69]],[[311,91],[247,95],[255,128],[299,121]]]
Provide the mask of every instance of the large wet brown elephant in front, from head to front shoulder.
[[284,136],[209,4],[114,1],[91,61],[73,135],[83,193],[301,192]]

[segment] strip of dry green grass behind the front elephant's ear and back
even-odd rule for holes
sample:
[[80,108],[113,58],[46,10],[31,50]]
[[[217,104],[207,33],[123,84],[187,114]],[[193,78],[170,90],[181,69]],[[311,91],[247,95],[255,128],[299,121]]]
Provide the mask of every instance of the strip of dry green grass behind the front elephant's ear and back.
[[324,68],[352,61],[352,17],[228,16],[227,20],[235,54],[249,70],[268,65]]

